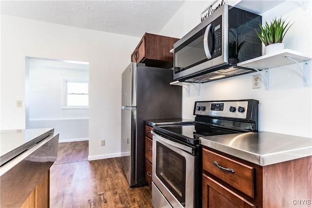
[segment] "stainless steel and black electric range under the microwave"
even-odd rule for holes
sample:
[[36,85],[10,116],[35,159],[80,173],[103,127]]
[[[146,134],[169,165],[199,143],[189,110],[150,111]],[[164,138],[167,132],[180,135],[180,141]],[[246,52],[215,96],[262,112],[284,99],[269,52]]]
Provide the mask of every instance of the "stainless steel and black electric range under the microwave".
[[197,101],[194,124],[155,126],[153,206],[202,207],[202,156],[199,137],[258,131],[259,101]]

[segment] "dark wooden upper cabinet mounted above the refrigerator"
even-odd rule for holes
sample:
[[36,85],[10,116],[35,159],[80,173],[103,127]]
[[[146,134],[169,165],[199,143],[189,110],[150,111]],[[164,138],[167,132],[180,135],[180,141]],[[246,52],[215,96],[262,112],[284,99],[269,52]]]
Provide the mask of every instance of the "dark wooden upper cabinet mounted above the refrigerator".
[[171,68],[174,55],[170,50],[177,40],[179,39],[145,33],[131,54],[131,61],[151,67]]

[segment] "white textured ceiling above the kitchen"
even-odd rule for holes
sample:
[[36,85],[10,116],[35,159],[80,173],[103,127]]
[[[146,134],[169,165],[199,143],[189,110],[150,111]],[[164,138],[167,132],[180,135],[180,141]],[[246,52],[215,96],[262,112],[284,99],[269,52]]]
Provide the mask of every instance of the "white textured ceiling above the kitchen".
[[1,13],[128,36],[157,34],[185,0],[1,0]]

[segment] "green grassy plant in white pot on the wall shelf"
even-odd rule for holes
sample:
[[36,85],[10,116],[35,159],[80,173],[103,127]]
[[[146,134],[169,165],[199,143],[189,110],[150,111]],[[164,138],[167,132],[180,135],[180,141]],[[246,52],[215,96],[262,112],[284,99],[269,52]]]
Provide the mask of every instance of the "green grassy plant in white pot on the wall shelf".
[[260,26],[260,30],[262,34],[257,33],[257,36],[260,40],[264,43],[265,47],[265,54],[270,54],[279,50],[284,49],[284,43],[282,43],[286,32],[292,26],[282,18],[275,18],[273,19],[270,24],[265,21],[264,25]]

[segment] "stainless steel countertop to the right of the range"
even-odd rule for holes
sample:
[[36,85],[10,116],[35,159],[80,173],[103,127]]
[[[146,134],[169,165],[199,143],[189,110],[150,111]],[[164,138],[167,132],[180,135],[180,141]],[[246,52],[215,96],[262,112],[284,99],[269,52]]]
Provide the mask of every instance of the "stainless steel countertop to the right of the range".
[[312,155],[312,138],[273,132],[205,136],[199,143],[260,166]]

